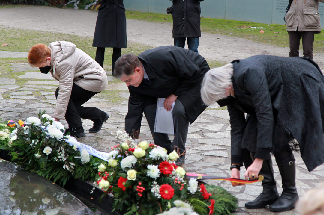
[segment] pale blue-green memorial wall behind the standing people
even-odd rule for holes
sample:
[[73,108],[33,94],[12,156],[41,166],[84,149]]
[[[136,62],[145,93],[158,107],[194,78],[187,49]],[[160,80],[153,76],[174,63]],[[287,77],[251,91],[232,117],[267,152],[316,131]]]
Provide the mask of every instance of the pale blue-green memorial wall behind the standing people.
[[[284,15],[289,0],[205,0],[201,16],[251,21],[265,24],[285,24]],[[126,10],[166,14],[170,0],[124,0]],[[321,26],[324,27],[324,3],[319,3]]]

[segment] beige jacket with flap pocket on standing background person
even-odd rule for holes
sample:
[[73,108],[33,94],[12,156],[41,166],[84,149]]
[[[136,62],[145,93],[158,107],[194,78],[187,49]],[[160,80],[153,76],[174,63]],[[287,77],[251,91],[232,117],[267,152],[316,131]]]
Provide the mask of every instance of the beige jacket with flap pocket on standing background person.
[[321,32],[318,13],[319,2],[324,0],[293,0],[285,16],[287,31],[315,31]]

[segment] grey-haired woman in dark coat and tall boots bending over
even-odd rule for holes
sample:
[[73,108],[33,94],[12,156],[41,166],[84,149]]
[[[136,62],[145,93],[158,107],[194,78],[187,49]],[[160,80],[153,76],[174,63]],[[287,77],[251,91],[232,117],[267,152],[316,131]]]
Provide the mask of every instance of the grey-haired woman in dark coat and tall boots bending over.
[[[257,55],[234,60],[205,74],[201,96],[206,105],[215,101],[227,105],[231,177],[239,178],[243,163],[246,179],[264,177],[262,193],[245,207],[270,205],[278,212],[292,209],[298,193],[291,140],[297,140],[299,145],[294,146],[300,147],[308,171],[324,163],[324,76],[318,65],[305,57]],[[271,152],[282,177],[281,196]]]

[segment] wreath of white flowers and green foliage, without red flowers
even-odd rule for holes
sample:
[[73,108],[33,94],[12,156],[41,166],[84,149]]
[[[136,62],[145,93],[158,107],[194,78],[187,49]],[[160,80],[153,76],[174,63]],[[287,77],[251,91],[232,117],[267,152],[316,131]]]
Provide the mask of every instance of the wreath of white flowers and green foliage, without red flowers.
[[[95,180],[97,166],[105,161],[89,156],[81,156],[76,147],[69,145],[69,135],[64,135],[64,127],[45,111],[37,117],[29,117],[10,128],[0,124],[0,149],[10,152],[11,161],[17,166],[35,172],[42,177],[65,185],[73,178]],[[7,136],[1,140],[1,134]],[[9,135],[10,134],[10,135]]]

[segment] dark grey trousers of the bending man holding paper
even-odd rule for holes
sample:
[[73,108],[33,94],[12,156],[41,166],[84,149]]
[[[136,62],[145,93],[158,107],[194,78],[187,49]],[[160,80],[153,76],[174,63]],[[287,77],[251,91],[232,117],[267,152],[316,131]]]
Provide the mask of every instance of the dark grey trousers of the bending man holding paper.
[[168,153],[173,151],[174,146],[179,147],[180,154],[186,150],[185,143],[187,141],[189,120],[185,108],[179,100],[176,101],[172,111],[174,125],[174,139],[172,143],[168,137],[168,134],[154,133],[156,104],[146,106],[144,108],[144,114],[150,126],[153,140],[156,145],[166,148]]

